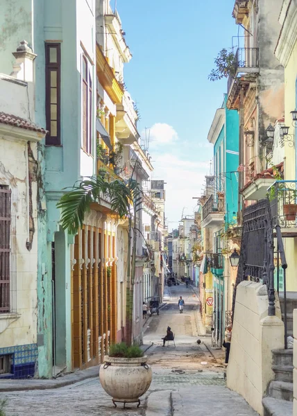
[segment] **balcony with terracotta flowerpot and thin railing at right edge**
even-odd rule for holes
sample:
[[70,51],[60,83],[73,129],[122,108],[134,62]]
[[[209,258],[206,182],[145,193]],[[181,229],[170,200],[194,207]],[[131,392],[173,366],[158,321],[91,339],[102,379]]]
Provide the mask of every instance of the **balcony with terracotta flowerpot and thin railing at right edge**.
[[283,237],[297,236],[297,181],[277,180],[268,189],[273,227],[280,225]]

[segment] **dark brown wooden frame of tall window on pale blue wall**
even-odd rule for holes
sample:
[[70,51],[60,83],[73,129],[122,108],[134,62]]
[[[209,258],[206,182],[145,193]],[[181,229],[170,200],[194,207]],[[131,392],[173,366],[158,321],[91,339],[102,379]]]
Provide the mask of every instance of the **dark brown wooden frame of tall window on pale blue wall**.
[[[50,62],[50,49],[56,48],[57,62]],[[57,73],[57,135],[51,136],[51,72]],[[61,146],[61,44],[59,42],[45,42],[45,114],[46,146]]]

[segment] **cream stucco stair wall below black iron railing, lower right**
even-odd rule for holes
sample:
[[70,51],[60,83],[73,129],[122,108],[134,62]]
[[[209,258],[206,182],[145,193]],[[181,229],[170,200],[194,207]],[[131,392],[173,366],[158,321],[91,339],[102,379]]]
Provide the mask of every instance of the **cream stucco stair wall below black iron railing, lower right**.
[[237,287],[227,386],[260,415],[262,398],[274,378],[271,350],[284,348],[285,330],[278,299],[275,307],[276,315],[268,316],[266,286],[243,281]]

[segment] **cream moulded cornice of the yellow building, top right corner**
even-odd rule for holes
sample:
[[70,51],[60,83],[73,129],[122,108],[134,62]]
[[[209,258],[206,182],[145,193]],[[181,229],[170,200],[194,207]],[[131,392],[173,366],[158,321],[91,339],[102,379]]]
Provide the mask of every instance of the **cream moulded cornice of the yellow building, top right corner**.
[[297,0],[291,0],[282,24],[275,56],[283,67],[287,66],[297,40]]

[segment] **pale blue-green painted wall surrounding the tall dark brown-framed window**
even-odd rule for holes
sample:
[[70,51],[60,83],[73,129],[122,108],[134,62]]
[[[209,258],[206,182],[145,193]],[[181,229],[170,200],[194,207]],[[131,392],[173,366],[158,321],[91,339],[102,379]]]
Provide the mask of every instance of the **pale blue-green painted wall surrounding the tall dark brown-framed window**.
[[[85,19],[81,19],[84,16]],[[40,144],[39,159],[44,201],[38,219],[38,375],[51,377],[53,366],[53,314],[56,314],[56,364],[71,370],[71,252],[73,236],[60,229],[56,208],[63,189],[80,179],[81,83],[80,55],[83,42],[87,53],[95,53],[96,26],[86,2],[80,0],[33,0],[33,51],[37,54],[35,120],[45,119],[44,42],[61,42],[61,146]],[[92,24],[90,24],[92,21]],[[87,31],[83,28],[87,22]],[[94,69],[93,69],[94,76]],[[93,82],[93,86],[96,83]],[[96,105],[96,94],[94,105]],[[95,122],[95,121],[94,121]],[[94,135],[94,140],[96,135]],[[94,146],[95,148],[95,146]],[[94,159],[96,162],[96,158]],[[94,171],[95,162],[91,172]],[[94,166],[93,166],[94,164]],[[45,204],[46,202],[46,204]],[[56,307],[53,309],[52,243],[56,252]]]

